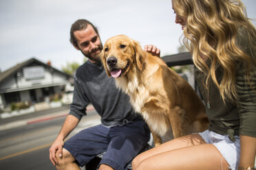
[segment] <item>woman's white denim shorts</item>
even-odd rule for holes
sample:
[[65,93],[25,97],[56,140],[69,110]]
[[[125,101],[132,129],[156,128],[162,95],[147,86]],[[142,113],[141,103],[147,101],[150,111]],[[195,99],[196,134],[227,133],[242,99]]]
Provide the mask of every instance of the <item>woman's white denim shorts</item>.
[[217,147],[232,170],[238,168],[240,158],[239,136],[235,136],[235,142],[233,142],[228,138],[228,135],[220,135],[209,130],[199,134],[206,143],[211,143]]

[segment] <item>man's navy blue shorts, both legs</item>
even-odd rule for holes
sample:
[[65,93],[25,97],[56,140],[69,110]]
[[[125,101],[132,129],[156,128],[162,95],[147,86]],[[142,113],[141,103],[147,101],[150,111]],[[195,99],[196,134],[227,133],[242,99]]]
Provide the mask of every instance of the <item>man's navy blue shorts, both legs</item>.
[[134,121],[122,126],[106,127],[96,125],[72,136],[64,148],[76,158],[80,167],[85,166],[96,155],[106,151],[101,164],[119,170],[125,169],[150,138],[145,121]]

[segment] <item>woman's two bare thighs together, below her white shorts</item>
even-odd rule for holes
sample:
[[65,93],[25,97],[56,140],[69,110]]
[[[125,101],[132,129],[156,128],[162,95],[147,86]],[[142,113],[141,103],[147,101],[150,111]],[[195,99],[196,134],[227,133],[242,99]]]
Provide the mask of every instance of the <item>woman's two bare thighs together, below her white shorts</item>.
[[136,157],[133,166],[134,169],[226,169],[228,164],[214,145],[206,144],[199,134],[191,134],[145,151]]

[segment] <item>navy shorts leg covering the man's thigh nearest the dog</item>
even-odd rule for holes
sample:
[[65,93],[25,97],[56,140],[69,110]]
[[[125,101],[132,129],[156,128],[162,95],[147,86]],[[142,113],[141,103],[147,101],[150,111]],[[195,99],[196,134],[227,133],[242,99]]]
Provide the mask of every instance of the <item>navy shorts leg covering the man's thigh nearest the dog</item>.
[[125,169],[149,141],[149,129],[144,121],[135,121],[127,125],[111,127],[111,141],[100,166],[109,165],[113,169]]

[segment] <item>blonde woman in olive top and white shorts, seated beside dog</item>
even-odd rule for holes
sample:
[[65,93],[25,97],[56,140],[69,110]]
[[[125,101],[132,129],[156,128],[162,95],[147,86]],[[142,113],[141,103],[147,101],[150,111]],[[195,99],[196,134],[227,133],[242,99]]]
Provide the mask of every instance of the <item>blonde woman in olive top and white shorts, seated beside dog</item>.
[[193,56],[209,130],[138,155],[133,169],[254,169],[256,30],[237,0],[172,0]]

